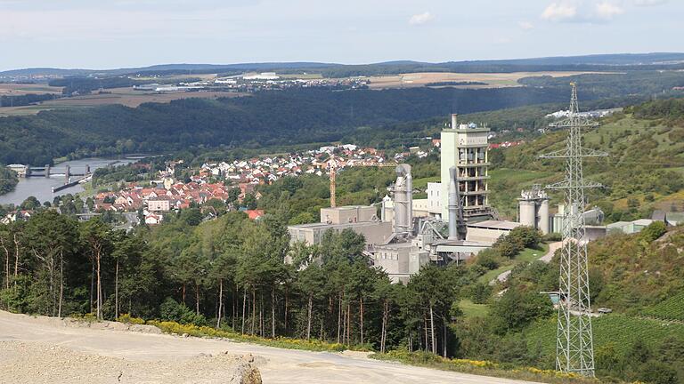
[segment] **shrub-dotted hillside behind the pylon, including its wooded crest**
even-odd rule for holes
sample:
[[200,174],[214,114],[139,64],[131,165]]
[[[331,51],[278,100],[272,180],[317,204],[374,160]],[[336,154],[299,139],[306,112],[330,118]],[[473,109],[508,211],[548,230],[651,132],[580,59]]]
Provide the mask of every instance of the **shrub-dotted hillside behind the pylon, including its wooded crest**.
[[[607,188],[592,190],[590,204],[599,205],[608,220],[635,220],[654,209],[681,211],[684,190],[684,124],[682,100],[655,100],[605,118],[584,134],[588,148],[609,156],[587,159],[585,176]],[[560,149],[566,132],[550,131],[538,140],[491,154],[495,168],[515,169],[493,177],[495,190],[516,190],[532,183],[560,179],[562,162],[540,160],[539,155]],[[494,175],[498,176],[497,171]],[[507,176],[508,175],[508,176]],[[504,212],[514,212],[511,196],[494,196]],[[508,202],[508,203],[507,203]],[[508,204],[508,205],[506,205]]]

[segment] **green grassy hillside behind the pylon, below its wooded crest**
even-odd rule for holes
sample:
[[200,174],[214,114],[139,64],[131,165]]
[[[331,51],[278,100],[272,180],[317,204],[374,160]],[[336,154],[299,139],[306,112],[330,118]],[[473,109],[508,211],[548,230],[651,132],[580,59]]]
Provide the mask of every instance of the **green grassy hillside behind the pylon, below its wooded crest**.
[[[683,208],[682,191],[673,193],[648,192],[644,186],[632,180],[625,185],[615,183],[612,166],[619,165],[623,170],[637,167],[653,167],[656,170],[679,172],[684,176],[684,140],[679,140],[682,126],[667,126],[659,120],[643,120],[631,115],[609,117],[596,129],[584,132],[587,148],[606,151],[607,158],[588,158],[585,160],[585,177],[608,184],[610,189],[590,191],[589,201],[605,201],[614,204],[616,209],[627,208],[628,199],[636,199],[639,208],[652,206],[669,210],[672,204]],[[491,203],[507,218],[515,219],[517,194],[523,188],[535,183],[548,184],[562,178],[562,161],[540,160],[538,155],[563,148],[566,132],[548,132],[531,143],[509,148],[506,153],[506,166],[490,172],[490,189],[493,193]],[[636,180],[639,180],[638,178]],[[552,204],[557,204],[560,196],[551,194]],[[647,201],[652,197],[652,201]]]

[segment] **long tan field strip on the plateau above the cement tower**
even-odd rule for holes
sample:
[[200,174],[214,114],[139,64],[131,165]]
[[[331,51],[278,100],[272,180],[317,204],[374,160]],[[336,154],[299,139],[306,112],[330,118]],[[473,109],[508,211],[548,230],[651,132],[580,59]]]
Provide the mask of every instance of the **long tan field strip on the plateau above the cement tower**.
[[[520,86],[517,81],[523,77],[552,76],[566,77],[584,75],[595,72],[512,72],[512,73],[454,73],[454,72],[425,72],[407,73],[393,76],[371,76],[371,89],[408,88],[426,86],[431,83],[471,82],[485,84],[455,85],[459,88],[501,88]],[[604,72],[605,73],[605,72]],[[452,86],[452,85],[450,85]]]

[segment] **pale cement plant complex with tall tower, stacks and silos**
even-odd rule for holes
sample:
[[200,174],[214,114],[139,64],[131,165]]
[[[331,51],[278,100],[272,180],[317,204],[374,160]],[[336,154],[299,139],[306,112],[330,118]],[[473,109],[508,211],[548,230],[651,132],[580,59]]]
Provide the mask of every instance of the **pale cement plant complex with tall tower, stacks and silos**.
[[325,231],[351,228],[365,236],[371,263],[393,282],[405,283],[422,266],[468,260],[521,225],[548,233],[549,198],[541,190],[520,199],[525,222],[495,220],[488,202],[488,134],[488,128],[458,124],[452,115],[441,136],[441,182],[428,183],[428,198],[413,199],[411,166],[398,164],[380,217],[374,206],[322,208],[321,222],[288,227],[291,240],[320,244]]

